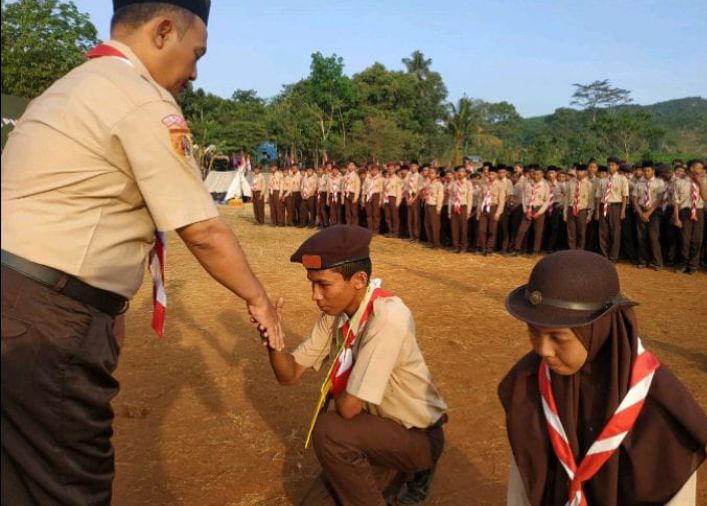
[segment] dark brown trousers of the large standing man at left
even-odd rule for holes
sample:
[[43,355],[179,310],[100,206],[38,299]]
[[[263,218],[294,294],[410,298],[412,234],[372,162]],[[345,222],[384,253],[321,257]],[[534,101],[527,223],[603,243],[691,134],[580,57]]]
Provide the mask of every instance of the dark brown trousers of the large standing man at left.
[[3,505],[110,504],[114,319],[2,267]]

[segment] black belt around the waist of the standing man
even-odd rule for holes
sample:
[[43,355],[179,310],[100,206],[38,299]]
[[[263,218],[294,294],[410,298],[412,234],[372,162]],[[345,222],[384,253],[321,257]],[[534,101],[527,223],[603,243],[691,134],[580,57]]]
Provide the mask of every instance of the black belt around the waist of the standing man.
[[75,301],[92,306],[110,316],[125,312],[128,299],[108,290],[95,288],[64,272],[36,264],[2,250],[2,264],[34,281],[48,286]]

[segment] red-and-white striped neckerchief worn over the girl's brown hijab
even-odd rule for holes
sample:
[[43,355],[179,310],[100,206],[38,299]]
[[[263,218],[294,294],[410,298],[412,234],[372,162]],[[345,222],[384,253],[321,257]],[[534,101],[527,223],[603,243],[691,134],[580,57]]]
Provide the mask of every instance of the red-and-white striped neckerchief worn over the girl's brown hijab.
[[604,463],[611,458],[621,445],[626,435],[633,428],[643,404],[648,395],[653,375],[660,367],[660,362],[651,352],[643,348],[638,338],[638,354],[631,367],[631,382],[629,391],[621,404],[607,422],[599,437],[589,447],[582,462],[577,465],[567,433],[562,426],[559,411],[552,392],[552,377],[550,368],[543,361],[538,370],[538,385],[542,398],[543,412],[547,422],[547,432],[550,442],[562,467],[570,479],[569,498],[566,506],[587,506],[582,484],[589,481]]

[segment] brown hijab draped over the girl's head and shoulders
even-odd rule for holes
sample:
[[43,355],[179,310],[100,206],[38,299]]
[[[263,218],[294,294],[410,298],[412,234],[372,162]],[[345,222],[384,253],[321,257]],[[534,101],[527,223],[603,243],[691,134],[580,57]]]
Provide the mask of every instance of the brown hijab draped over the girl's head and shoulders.
[[[571,375],[552,375],[552,389],[577,465],[626,395],[637,353],[633,309],[617,306],[573,329],[587,362]],[[533,506],[563,506],[569,478],[548,437],[538,389],[540,357],[531,352],[501,381],[511,449]],[[587,503],[601,506],[665,504],[705,459],[707,416],[661,364],[636,424],[589,481]]]

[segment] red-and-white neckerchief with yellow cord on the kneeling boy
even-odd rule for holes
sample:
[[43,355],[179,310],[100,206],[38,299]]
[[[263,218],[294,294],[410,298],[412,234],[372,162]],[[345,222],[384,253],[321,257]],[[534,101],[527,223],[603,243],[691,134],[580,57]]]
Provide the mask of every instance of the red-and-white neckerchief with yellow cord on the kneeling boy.
[[[322,411],[324,402],[331,396],[334,397],[346,389],[346,384],[349,380],[349,375],[351,374],[351,369],[353,369],[353,345],[356,342],[356,338],[361,334],[363,327],[366,326],[368,318],[373,313],[373,303],[379,298],[393,297],[392,293],[384,292],[380,289],[380,279],[373,279],[368,285],[368,290],[366,296],[364,297],[361,305],[359,306],[356,313],[353,315],[351,320],[346,322],[341,327],[341,342],[337,338],[338,350],[336,352],[336,358],[331,364],[331,367],[327,371],[324,377],[324,383],[319,390],[319,401],[314,409],[314,415],[312,416],[312,421],[309,425],[309,431],[307,432],[307,439],[304,442],[305,449],[309,446],[309,440],[312,437],[312,431],[314,430],[314,425],[317,423],[317,418],[319,413]],[[354,332],[353,329],[356,329]]]

